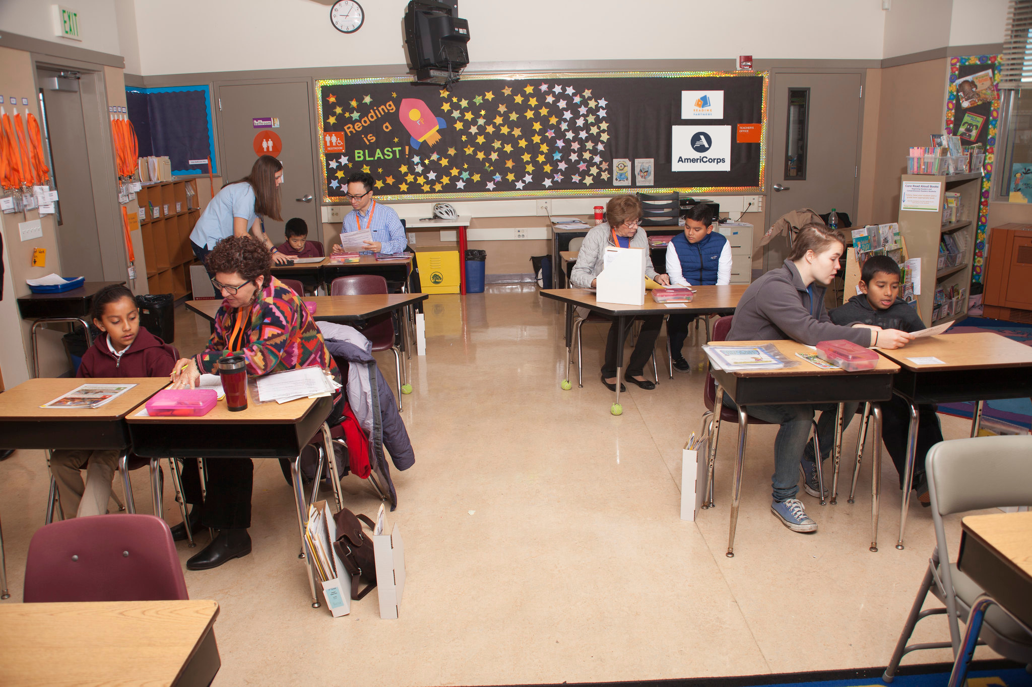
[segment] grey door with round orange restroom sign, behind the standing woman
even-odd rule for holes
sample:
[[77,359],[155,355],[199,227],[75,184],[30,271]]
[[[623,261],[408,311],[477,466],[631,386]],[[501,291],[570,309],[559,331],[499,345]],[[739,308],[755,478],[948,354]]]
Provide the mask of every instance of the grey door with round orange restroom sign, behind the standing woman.
[[[300,217],[308,224],[311,240],[322,240],[312,159],[314,134],[309,90],[308,81],[217,89],[223,181],[235,181],[250,174],[251,166],[261,154],[272,154],[283,163],[280,194],[284,221],[265,219],[265,233],[273,245],[283,243],[283,226],[291,217]],[[279,126],[266,127],[269,121]]]

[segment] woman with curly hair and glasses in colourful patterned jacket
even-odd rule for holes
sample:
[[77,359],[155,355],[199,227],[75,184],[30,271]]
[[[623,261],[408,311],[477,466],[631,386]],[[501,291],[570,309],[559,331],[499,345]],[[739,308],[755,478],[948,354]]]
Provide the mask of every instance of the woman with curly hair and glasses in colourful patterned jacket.
[[[223,239],[208,253],[205,267],[215,274],[212,284],[222,294],[222,306],[207,347],[175,364],[172,388],[196,386],[201,373],[215,373],[219,358],[230,353],[244,355],[251,377],[319,367],[341,381],[315,320],[300,298],[270,274],[271,264],[268,248],[247,235]],[[185,497],[193,510],[187,523],[172,528],[173,539],[186,539],[186,526],[191,531],[219,530],[207,547],[187,561],[187,570],[218,568],[251,553],[251,458],[209,460],[203,499],[197,471],[185,470],[183,477]]]

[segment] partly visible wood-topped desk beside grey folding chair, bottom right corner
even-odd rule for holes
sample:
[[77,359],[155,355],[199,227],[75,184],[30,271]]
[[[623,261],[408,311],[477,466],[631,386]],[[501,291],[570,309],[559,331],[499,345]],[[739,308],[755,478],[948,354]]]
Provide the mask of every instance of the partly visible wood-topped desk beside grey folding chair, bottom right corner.
[[1032,513],[964,518],[957,566],[985,593],[971,605],[967,629],[949,675],[950,686],[964,684],[990,605],[996,604],[1026,629],[1032,628]]

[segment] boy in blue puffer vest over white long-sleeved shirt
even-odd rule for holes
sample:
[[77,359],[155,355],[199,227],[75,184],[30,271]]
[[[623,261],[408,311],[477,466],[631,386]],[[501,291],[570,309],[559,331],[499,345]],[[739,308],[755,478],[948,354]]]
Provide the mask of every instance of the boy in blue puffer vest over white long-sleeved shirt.
[[[672,286],[731,283],[731,244],[719,232],[713,233],[713,207],[694,205],[684,217],[684,233],[667,244],[667,274]],[[688,371],[681,347],[695,315],[671,315],[667,322],[674,369]]]

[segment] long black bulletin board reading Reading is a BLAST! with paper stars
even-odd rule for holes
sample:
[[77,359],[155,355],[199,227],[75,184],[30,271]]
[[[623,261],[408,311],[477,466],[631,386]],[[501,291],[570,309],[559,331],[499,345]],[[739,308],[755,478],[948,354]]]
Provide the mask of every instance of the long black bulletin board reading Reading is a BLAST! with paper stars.
[[323,197],[388,201],[760,193],[767,72],[409,76],[316,82]]

